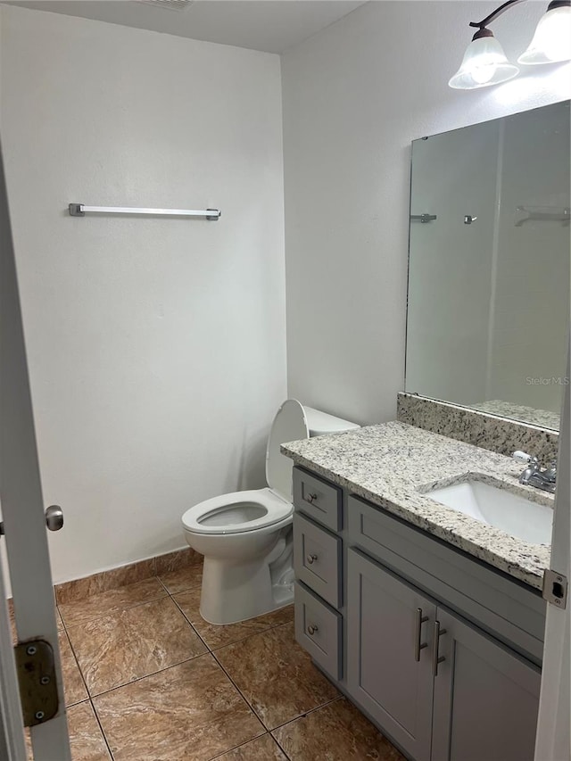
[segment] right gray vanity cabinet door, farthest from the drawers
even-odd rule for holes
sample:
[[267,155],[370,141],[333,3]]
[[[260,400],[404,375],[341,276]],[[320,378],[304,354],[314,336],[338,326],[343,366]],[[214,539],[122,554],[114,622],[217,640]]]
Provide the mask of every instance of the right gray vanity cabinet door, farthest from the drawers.
[[533,761],[540,670],[442,608],[436,621],[433,761]]

